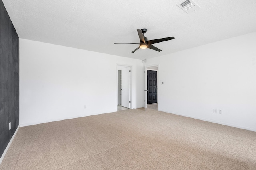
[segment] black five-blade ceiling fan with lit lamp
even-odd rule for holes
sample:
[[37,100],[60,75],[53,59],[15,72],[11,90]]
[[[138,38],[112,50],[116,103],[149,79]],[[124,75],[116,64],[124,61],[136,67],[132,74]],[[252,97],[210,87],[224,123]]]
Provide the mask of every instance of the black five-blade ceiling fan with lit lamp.
[[138,35],[140,37],[140,43],[115,43],[115,44],[139,44],[140,46],[138,48],[136,48],[134,51],[132,51],[132,53],[134,53],[139,48],[141,48],[141,49],[149,48],[149,49],[156,50],[156,51],[160,52],[162,50],[156,48],[152,44],[174,39],[174,37],[166,37],[166,38],[148,40],[147,37],[144,36],[144,34],[148,31],[146,28],[137,29],[137,31],[138,31]]

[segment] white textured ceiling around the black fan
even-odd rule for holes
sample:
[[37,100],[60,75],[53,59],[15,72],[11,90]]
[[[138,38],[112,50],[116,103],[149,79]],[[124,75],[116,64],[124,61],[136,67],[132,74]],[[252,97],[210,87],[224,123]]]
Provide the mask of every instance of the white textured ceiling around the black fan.
[[[256,0],[194,0],[199,10],[187,14],[184,0],[3,0],[20,38],[150,59],[256,31]],[[138,49],[136,29],[161,52]]]

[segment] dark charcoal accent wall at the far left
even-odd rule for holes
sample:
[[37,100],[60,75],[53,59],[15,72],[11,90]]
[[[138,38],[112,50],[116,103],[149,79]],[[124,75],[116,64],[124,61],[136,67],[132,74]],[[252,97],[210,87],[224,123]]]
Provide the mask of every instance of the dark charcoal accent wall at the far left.
[[19,37],[0,0],[0,157],[18,125]]

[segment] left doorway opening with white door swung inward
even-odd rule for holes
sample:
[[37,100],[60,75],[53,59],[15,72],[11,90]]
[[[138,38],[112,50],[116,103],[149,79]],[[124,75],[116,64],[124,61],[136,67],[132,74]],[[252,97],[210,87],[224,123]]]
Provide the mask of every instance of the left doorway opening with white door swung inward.
[[121,111],[131,108],[131,67],[117,65],[117,109]]

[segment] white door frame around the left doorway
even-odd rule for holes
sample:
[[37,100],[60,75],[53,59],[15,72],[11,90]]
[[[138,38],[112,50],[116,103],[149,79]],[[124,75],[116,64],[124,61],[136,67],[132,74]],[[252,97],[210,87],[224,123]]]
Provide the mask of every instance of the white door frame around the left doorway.
[[130,109],[132,109],[132,65],[127,64],[116,64],[116,111],[117,111],[117,105],[118,105],[118,70],[121,70],[122,68],[130,67]]

